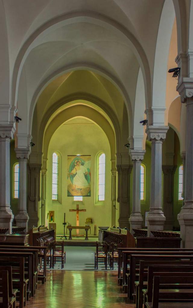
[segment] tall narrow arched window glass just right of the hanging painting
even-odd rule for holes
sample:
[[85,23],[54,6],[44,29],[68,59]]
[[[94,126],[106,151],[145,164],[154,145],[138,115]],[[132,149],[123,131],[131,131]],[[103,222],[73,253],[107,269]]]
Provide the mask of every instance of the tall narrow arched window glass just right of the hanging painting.
[[99,201],[105,200],[105,154],[99,156]]

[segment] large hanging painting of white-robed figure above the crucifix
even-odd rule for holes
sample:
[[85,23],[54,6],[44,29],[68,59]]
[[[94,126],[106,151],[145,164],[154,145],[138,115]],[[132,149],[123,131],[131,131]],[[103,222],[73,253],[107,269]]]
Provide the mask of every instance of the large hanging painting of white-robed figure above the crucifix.
[[91,155],[68,155],[67,196],[90,197]]

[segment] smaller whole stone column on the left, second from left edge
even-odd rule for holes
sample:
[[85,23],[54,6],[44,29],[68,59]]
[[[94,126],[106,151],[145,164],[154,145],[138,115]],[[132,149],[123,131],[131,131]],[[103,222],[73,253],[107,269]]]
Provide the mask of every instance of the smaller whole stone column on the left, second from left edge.
[[27,232],[27,224],[29,216],[27,214],[27,160],[31,150],[15,148],[16,156],[19,159],[19,208],[15,216],[16,225],[25,227]]

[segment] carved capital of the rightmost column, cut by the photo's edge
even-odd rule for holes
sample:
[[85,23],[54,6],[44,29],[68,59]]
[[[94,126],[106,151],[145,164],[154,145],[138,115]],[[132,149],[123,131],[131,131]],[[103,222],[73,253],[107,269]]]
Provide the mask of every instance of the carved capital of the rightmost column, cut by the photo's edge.
[[[181,78],[181,81],[178,83],[176,90],[181,96],[181,102],[187,103],[187,99],[193,97],[193,77]],[[191,103],[193,103],[193,101]]]

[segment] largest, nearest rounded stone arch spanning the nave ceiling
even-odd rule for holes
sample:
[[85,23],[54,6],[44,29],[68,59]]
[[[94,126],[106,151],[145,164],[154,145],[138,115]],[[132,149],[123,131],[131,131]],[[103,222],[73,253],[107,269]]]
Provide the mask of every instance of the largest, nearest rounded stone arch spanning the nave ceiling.
[[44,23],[42,26],[40,26],[33,34],[30,35],[30,37],[25,41],[23,46],[21,47],[19,54],[17,55],[14,70],[13,70],[13,77],[12,77],[12,92],[11,92],[11,102],[12,104],[16,105],[17,102],[17,91],[19,86],[19,79],[21,70],[23,67],[23,64],[25,60],[27,59],[27,55],[31,51],[31,49],[35,45],[36,39],[41,39],[42,35],[45,35],[50,31],[51,29],[54,29],[65,22],[76,22],[78,19],[84,19],[89,20],[89,22],[98,22],[100,24],[103,24],[103,26],[110,27],[114,31],[118,31],[121,35],[124,35],[126,39],[128,39],[128,44],[130,45],[132,51],[136,55],[136,58],[138,59],[138,62],[141,66],[144,83],[145,83],[145,96],[146,96],[146,102],[147,104],[150,102],[150,69],[149,69],[149,63],[146,57],[146,54],[141,47],[138,40],[133,36],[131,32],[129,32],[124,26],[122,26],[120,23],[116,22],[115,20],[112,20],[108,18],[107,16],[94,13],[94,12],[73,12],[68,13],[65,15],[57,16],[56,18],[53,18],[49,20],[48,22]]

